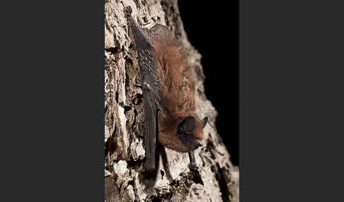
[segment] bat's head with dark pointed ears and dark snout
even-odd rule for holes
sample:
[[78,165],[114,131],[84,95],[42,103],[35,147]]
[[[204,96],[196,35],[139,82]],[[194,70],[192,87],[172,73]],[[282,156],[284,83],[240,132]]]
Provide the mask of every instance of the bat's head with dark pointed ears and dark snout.
[[177,136],[187,148],[186,152],[195,150],[203,145],[203,128],[207,124],[208,117],[199,119],[197,115],[188,115],[177,124]]

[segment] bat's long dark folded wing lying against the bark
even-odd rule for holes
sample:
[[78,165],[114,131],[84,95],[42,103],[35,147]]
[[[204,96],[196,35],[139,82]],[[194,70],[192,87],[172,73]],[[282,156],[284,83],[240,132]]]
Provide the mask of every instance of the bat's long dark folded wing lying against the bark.
[[161,104],[161,85],[155,69],[154,49],[149,40],[146,30],[137,25],[131,16],[130,6],[125,8],[127,19],[130,23],[132,34],[134,35],[135,46],[139,62],[139,70],[142,78],[142,93],[144,100],[144,150],[146,151],[146,161],[144,170],[154,172],[156,170],[156,133],[158,110],[165,112]]

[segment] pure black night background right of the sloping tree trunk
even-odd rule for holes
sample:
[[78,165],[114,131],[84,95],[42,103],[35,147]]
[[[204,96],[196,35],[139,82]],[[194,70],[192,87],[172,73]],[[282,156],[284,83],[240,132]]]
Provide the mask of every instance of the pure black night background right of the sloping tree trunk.
[[239,165],[239,1],[178,1],[188,40],[202,54],[205,94],[217,131]]

